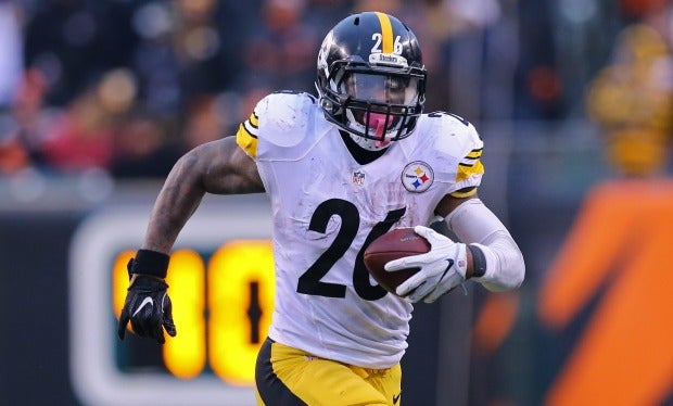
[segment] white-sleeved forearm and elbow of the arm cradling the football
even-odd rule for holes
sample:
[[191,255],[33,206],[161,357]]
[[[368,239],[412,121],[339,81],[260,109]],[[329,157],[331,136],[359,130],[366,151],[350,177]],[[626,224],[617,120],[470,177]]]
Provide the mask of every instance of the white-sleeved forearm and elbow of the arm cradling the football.
[[[483,275],[472,279],[491,291],[516,289],[523,282],[523,255],[503,223],[479,199],[466,201],[446,217],[448,227],[464,243],[483,254]],[[474,255],[469,255],[470,271]]]

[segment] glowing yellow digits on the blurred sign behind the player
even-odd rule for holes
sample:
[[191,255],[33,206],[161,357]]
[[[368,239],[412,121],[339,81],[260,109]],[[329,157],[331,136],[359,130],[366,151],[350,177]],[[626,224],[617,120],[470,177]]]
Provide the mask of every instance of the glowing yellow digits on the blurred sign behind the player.
[[[117,318],[128,288],[126,264],[134,254],[124,252],[114,264],[112,296]],[[257,350],[274,308],[270,241],[228,242],[207,264],[193,250],[178,250],[170,256],[166,281],[178,327],[178,335],[167,339],[162,348],[166,368],[178,378],[191,379],[209,364],[228,383],[253,384]]]

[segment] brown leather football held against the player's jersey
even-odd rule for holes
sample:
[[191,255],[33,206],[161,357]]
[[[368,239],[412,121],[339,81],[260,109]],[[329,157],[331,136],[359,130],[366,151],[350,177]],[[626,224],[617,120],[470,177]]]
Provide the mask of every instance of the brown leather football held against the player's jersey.
[[379,284],[391,293],[416,274],[419,268],[388,271],[383,266],[393,259],[410,255],[424,254],[430,251],[430,243],[414,232],[412,227],[392,229],[373,240],[365,250],[364,261],[367,270]]

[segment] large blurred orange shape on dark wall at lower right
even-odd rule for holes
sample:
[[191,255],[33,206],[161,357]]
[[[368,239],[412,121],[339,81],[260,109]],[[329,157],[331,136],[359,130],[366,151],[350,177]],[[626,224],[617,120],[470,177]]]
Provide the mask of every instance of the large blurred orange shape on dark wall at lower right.
[[587,198],[542,286],[539,316],[595,303],[546,405],[655,405],[673,383],[673,181],[618,180]]

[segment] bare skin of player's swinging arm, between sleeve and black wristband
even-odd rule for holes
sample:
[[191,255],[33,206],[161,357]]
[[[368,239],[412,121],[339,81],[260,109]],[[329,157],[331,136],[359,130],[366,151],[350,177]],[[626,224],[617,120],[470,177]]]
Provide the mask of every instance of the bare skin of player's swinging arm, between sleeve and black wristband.
[[199,145],[175,164],[150,217],[143,249],[169,253],[180,230],[205,193],[264,192],[257,167],[227,137]]

